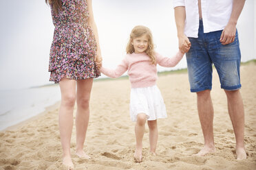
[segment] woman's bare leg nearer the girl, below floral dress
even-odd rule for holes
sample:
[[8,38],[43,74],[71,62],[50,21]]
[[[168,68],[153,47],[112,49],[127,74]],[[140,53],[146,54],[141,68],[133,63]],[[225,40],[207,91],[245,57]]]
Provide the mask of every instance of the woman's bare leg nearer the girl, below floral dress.
[[80,158],[89,159],[83,151],[85,136],[89,122],[89,98],[92,90],[93,79],[78,80],[76,93],[76,154]]

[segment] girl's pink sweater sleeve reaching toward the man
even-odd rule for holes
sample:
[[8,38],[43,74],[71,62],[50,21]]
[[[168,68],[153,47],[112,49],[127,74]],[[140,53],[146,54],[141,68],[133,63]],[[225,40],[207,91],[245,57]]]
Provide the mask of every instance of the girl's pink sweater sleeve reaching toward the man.
[[180,62],[180,60],[182,60],[183,56],[184,53],[182,53],[180,50],[172,58],[163,57],[157,53],[156,60],[160,66],[173,67],[177,65]]

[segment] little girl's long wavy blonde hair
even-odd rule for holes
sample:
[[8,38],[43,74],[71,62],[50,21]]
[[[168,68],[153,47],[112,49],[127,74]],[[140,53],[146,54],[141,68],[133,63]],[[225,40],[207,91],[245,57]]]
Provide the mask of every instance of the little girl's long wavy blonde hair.
[[126,52],[134,53],[134,45],[132,45],[131,42],[134,40],[134,38],[138,38],[145,34],[149,38],[149,46],[147,47],[145,53],[147,53],[147,56],[149,56],[149,58],[151,59],[151,63],[156,64],[156,57],[154,56],[155,51],[153,47],[153,38],[152,38],[151,31],[148,27],[138,25],[131,30],[130,39],[126,47]]

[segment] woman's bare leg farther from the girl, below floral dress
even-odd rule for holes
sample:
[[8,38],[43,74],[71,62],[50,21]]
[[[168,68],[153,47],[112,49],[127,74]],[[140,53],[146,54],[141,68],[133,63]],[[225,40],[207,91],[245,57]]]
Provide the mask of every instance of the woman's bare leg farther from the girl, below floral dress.
[[73,127],[73,110],[76,102],[76,81],[63,78],[59,84],[61,88],[61,108],[58,114],[58,124],[63,148],[63,165],[74,167],[70,154],[70,140]]

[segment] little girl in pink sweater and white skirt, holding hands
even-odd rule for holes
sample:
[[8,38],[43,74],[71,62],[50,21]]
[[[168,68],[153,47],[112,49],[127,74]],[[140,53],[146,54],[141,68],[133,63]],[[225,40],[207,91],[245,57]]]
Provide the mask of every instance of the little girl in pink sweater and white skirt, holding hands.
[[126,51],[127,56],[115,70],[101,67],[100,72],[116,78],[128,70],[131,82],[130,117],[132,121],[136,121],[134,159],[136,162],[142,162],[142,138],[146,121],[149,125],[150,152],[156,155],[157,119],[167,117],[164,101],[156,86],[158,77],[156,64],[166,67],[175,66],[184,53],[178,51],[173,58],[164,58],[156,53],[151,32],[144,26],[136,26],[132,29]]

